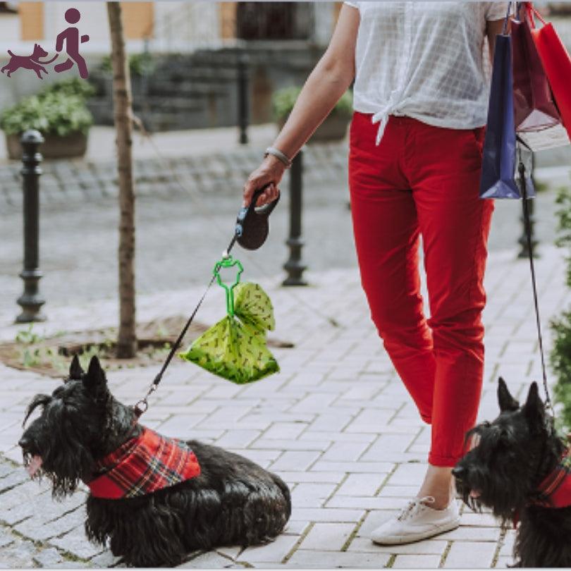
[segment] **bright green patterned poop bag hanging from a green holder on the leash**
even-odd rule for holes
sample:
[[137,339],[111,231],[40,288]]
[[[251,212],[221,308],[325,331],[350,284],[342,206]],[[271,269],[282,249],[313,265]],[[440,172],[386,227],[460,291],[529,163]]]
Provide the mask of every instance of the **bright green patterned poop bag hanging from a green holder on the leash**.
[[[238,275],[228,286],[222,283],[219,270],[231,266],[238,266]],[[227,315],[179,353],[182,359],[238,384],[280,370],[266,346],[266,330],[275,327],[271,301],[257,283],[240,283],[242,271],[242,264],[232,257],[216,264],[214,274],[226,290]]]

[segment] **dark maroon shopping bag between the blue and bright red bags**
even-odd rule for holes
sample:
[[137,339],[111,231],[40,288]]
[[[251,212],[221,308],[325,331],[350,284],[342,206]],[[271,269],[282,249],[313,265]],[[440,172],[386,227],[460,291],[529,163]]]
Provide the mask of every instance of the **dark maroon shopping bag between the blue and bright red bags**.
[[527,11],[512,20],[513,107],[518,133],[539,131],[561,122],[551,88],[537,53]]

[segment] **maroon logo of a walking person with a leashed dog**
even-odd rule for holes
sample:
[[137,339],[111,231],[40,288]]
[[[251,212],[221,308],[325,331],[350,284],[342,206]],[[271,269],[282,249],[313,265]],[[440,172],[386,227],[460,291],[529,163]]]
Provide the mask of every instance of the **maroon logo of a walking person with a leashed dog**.
[[[68,24],[76,24],[79,22],[81,18],[80,11],[77,8],[69,8],[66,10],[66,14],[64,16],[66,18],[66,22]],[[49,63],[52,63],[57,59],[59,56],[59,52],[63,50],[63,45],[65,44],[66,47],[66,54],[68,55],[68,59],[63,61],[62,63],[58,63],[54,66],[54,70],[56,73],[61,73],[62,71],[66,71],[73,67],[73,64],[76,63],[78,66],[78,70],[80,73],[80,77],[85,79],[87,78],[87,64],[85,63],[85,59],[79,53],[79,46],[80,43],[83,44],[84,42],[89,42],[89,35],[85,34],[80,37],[79,30],[77,27],[68,26],[66,27],[63,32],[60,32],[56,37],[56,55],[47,61],[42,61],[40,58],[44,58],[48,55],[48,52],[45,51],[42,46],[39,44],[34,44],[34,51],[29,56],[18,56],[17,54],[13,54],[12,51],[8,49],[8,54],[11,56],[10,61],[6,63],[6,66],[1,68],[1,72],[4,73],[7,71],[6,75],[11,77],[11,73],[16,71],[19,68],[29,69],[35,71],[36,75],[39,79],[43,79],[42,71],[44,73],[48,73],[48,70],[44,68]]]

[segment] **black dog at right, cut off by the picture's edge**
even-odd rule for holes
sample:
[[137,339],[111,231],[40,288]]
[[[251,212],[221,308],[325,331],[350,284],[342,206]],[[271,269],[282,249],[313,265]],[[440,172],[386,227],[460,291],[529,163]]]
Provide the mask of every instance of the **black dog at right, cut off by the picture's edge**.
[[537,383],[520,407],[500,378],[498,401],[498,418],[467,433],[479,441],[453,469],[458,491],[471,508],[491,508],[503,525],[520,521],[515,566],[571,567],[569,450],[555,434]]

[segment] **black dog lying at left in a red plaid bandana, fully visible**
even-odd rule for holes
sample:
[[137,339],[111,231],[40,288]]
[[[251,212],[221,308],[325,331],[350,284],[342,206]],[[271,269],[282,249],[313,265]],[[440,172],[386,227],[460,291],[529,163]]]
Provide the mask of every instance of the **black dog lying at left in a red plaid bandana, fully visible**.
[[[36,395],[25,421],[38,406],[42,415],[19,442],[28,471],[32,477],[46,474],[55,497],[73,493],[79,481],[85,481],[91,491],[87,536],[102,545],[110,541],[113,555],[128,565],[173,566],[197,549],[265,543],[283,531],[290,517],[290,491],[275,474],[221,448],[171,441],[137,424],[133,407],[122,405],[109,392],[97,357],[87,373],[74,357],[69,378],[51,396]],[[96,497],[101,495],[95,493],[97,482],[113,484],[104,472],[106,458],[113,458],[116,450],[131,450],[147,433],[161,446],[178,443],[167,447],[165,457],[182,458],[178,467],[187,471],[198,464],[199,474],[176,483],[176,474],[163,467],[166,486],[138,495],[149,482],[160,479],[159,460],[153,457],[148,465],[137,467],[144,475],[126,497]],[[120,493],[117,486],[111,488]]]

